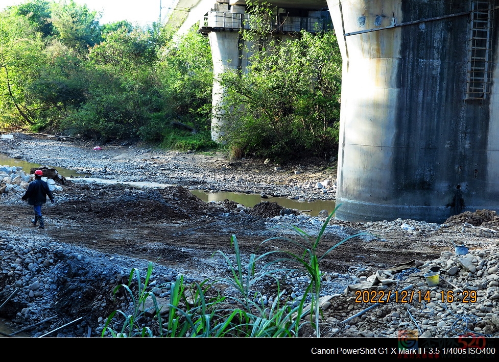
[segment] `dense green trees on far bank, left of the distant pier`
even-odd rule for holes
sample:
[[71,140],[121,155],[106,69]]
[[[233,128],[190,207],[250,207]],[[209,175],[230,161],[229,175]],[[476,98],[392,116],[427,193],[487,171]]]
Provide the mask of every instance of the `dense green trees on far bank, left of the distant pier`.
[[173,35],[159,24],[101,25],[99,14],[73,0],[32,0],[4,10],[0,126],[206,145],[208,42],[195,30],[179,40]]

